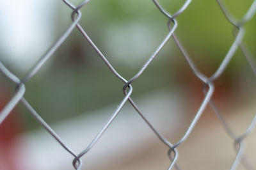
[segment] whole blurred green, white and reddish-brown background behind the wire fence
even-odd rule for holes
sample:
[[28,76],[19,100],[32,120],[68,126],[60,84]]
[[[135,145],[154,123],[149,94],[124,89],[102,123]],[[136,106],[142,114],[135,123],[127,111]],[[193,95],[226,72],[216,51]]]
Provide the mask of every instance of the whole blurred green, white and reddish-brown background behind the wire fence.
[[[179,10],[184,2],[159,0],[170,13]],[[241,18],[253,1],[223,2],[234,17]],[[72,23],[72,10],[62,1],[50,0],[3,0],[0,6],[0,60],[22,78]],[[168,34],[168,20],[152,1],[93,0],[81,12],[79,23],[125,79],[140,70]],[[255,19],[244,26],[243,39],[254,56]],[[233,26],[216,1],[193,1],[177,21],[175,34],[202,73],[211,76],[234,42]],[[238,134],[255,114],[255,84],[255,75],[241,50],[215,82],[216,105]],[[171,38],[132,83],[132,98],[153,125],[175,143],[204,99],[202,85]],[[24,97],[79,153],[124,98],[123,86],[74,29],[35,77],[26,82]],[[15,84],[0,73],[0,108],[12,98],[14,89]],[[194,131],[179,146],[180,167],[230,168],[236,155],[233,141],[211,108],[206,109]],[[0,126],[0,134],[0,169],[72,169],[72,157],[21,104]],[[256,151],[255,141],[255,137],[248,139],[250,153]],[[213,146],[209,148],[209,144]],[[84,169],[166,169],[170,164],[167,150],[127,103],[95,148],[83,157]]]

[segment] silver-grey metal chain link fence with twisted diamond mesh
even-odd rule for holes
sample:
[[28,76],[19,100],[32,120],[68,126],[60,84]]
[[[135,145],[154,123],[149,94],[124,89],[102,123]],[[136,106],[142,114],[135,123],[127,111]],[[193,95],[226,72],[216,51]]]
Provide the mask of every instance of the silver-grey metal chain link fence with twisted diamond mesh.
[[[230,165],[230,169],[237,169],[238,164],[243,164],[244,168],[250,169],[250,162],[246,160],[246,158],[243,155],[244,151],[244,139],[250,135],[252,132],[253,128],[255,127],[256,123],[256,116],[252,118],[251,123],[248,125],[248,128],[244,131],[243,134],[237,135],[232,128],[228,126],[228,123],[225,121],[225,118],[223,117],[223,114],[221,114],[221,111],[218,109],[216,104],[214,104],[214,101],[212,100],[212,95],[214,94],[214,81],[221,77],[225,69],[227,68],[228,64],[230,63],[230,60],[234,56],[234,54],[237,52],[238,49],[241,49],[241,52],[243,52],[244,57],[248,61],[248,66],[252,68],[252,72],[256,75],[256,66],[255,62],[253,61],[253,56],[248,47],[246,47],[245,43],[243,43],[243,37],[245,35],[244,31],[244,24],[246,22],[250,21],[253,19],[253,16],[255,15],[256,12],[256,1],[253,1],[251,4],[250,8],[248,8],[247,12],[244,14],[244,16],[241,19],[236,19],[232,16],[232,13],[228,12],[225,4],[221,0],[217,0],[218,5],[220,6],[221,11],[223,12],[223,15],[227,18],[227,22],[230,22],[233,26],[233,34],[234,34],[234,42],[230,45],[230,49],[227,50],[227,53],[225,56],[223,56],[223,60],[216,69],[216,71],[209,77],[204,75],[204,73],[200,72],[198,70],[197,66],[189,56],[189,53],[186,51],[186,47],[182,45],[180,42],[178,36],[175,34],[175,31],[179,29],[179,26],[177,24],[177,20],[179,20],[179,15],[183,13],[187,8],[189,8],[189,4],[191,4],[191,0],[187,0],[183,6],[177,10],[177,12],[172,12],[173,14],[170,14],[164,10],[163,6],[156,1],[153,0],[152,3],[156,5],[156,8],[158,8],[159,12],[161,12],[165,17],[166,20],[168,20],[168,34],[165,36],[163,41],[159,44],[158,47],[156,47],[156,50],[153,52],[151,56],[149,56],[148,60],[145,62],[145,64],[140,68],[140,70],[129,80],[125,79],[120,73],[118,73],[115,68],[111,65],[111,63],[108,61],[107,57],[104,56],[104,54],[100,51],[100,49],[97,47],[97,45],[93,42],[93,40],[88,36],[84,28],[79,24],[79,21],[82,19],[82,13],[81,13],[81,8],[84,8],[90,0],[83,1],[83,3],[79,4],[78,6],[74,6],[74,4],[70,3],[69,1],[63,0],[63,3],[67,5],[67,8],[72,9],[72,24],[68,27],[67,31],[61,35],[61,37],[52,45],[50,49],[48,49],[44,56],[42,56],[38,62],[33,66],[33,68],[26,74],[22,79],[14,75],[12,72],[6,68],[6,66],[3,65],[3,63],[0,62],[0,70],[1,73],[3,73],[8,79],[13,81],[15,84],[17,84],[17,87],[15,89],[15,95],[13,95],[12,99],[4,106],[0,113],[0,124],[3,123],[3,121],[9,116],[10,112],[15,108],[15,106],[18,103],[22,103],[26,109],[35,117],[35,120],[38,121],[42,127],[49,132],[49,134],[56,139],[56,141],[63,147],[63,150],[67,150],[70,155],[74,157],[74,160],[72,161],[72,164],[74,166],[74,169],[82,169],[83,167],[83,162],[81,158],[90,151],[95,144],[97,144],[97,141],[99,141],[100,137],[106,130],[108,130],[109,125],[115,120],[116,116],[121,113],[122,114],[122,107],[124,107],[124,104],[130,103],[132,107],[140,114],[141,118],[147,123],[148,127],[152,129],[152,132],[156,134],[156,137],[158,137],[159,141],[161,141],[164,145],[168,146],[169,150],[168,152],[168,157],[170,158],[170,166],[166,167],[166,169],[181,169],[179,167],[179,164],[177,164],[177,160],[179,157],[179,146],[184,143],[193,131],[194,127],[196,126],[198,120],[200,119],[200,116],[203,114],[205,111],[205,107],[207,105],[211,105],[211,108],[213,111],[216,113],[216,116],[218,116],[221,125],[225,128],[225,131],[227,132],[228,135],[234,140],[234,150],[236,151],[236,157],[234,158],[234,162]],[[255,19],[255,18],[254,18]],[[97,54],[99,54],[100,58],[106,66],[108,66],[109,70],[118,78],[120,81],[124,82],[124,86],[122,87],[123,93],[124,93],[124,98],[122,101],[120,101],[120,104],[118,104],[118,107],[113,111],[109,119],[106,121],[106,123],[102,126],[101,130],[99,131],[98,134],[95,134],[95,138],[92,140],[92,142],[84,148],[79,153],[75,153],[72,148],[69,148],[67,144],[61,139],[61,137],[54,132],[54,130],[45,122],[44,119],[40,117],[40,111],[35,111],[33,109],[33,106],[29,104],[29,102],[24,98],[24,94],[26,91],[26,82],[29,81],[36,73],[40,71],[40,68],[42,68],[43,65],[45,65],[45,62],[49,58],[51,58],[52,54],[56,52],[56,50],[63,44],[63,42],[67,39],[68,36],[70,36],[70,33],[74,31],[74,29],[78,29],[79,32],[81,33],[81,36],[83,36],[89,43],[92,45],[93,49]],[[200,107],[198,108],[197,111],[195,112],[195,117],[191,121],[189,127],[187,128],[186,132],[180,140],[177,143],[172,143],[172,139],[167,139],[166,136],[162,135],[155,127],[148,121],[146,116],[143,114],[143,112],[140,110],[138,105],[132,100],[131,94],[132,94],[132,83],[136,81],[137,79],[140,79],[140,76],[143,74],[143,72],[148,68],[150,63],[154,63],[154,58],[157,57],[159,52],[164,48],[164,45],[166,45],[166,42],[168,40],[173,39],[174,42],[177,44],[177,47],[179,47],[180,52],[182,52],[182,55],[188,62],[191,72],[193,72],[196,77],[200,81],[203,82],[204,86],[202,87],[202,91],[204,92],[204,100],[202,100],[202,103]],[[199,140],[199,139],[198,139]],[[182,163],[181,163],[182,164]]]

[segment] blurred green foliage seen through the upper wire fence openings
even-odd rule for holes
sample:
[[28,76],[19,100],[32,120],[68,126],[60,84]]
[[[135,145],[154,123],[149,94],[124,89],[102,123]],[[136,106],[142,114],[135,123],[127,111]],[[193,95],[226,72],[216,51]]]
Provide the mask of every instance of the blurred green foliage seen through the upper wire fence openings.
[[[179,10],[184,2],[185,0],[159,0],[164,9],[172,14]],[[238,18],[244,15],[250,3],[252,1],[243,1],[243,5],[238,0],[225,1],[228,10]],[[67,18],[63,20],[63,16],[69,17],[67,6],[63,5],[61,10],[65,10],[65,12],[63,15],[58,14],[56,19],[58,20],[57,31],[60,31],[59,25],[62,22],[67,22]],[[71,10],[69,11],[71,13]],[[168,19],[149,0],[92,0],[81,11],[83,13],[81,26],[126,79],[138,72],[168,33],[166,27]],[[70,22],[68,20],[68,23]],[[175,34],[179,36],[180,41],[200,70],[211,75],[218,68],[234,42],[232,24],[227,21],[216,1],[205,0],[192,1],[184,13],[177,17],[177,22],[179,25]],[[134,27],[140,27],[140,29],[134,29]],[[244,37],[244,42],[248,44],[253,54],[256,53],[255,27],[254,17],[246,24],[247,32]],[[118,29],[121,30],[116,31]],[[150,36],[147,40],[140,40],[143,36],[138,35],[142,33],[135,33],[132,30],[149,32],[148,35],[154,36]],[[130,40],[129,36],[128,38],[127,36],[120,36],[123,34],[138,36],[138,40],[125,43],[134,40]],[[118,48],[115,46],[114,40],[118,40],[118,43],[121,44],[118,45]],[[110,43],[113,45],[108,46]],[[143,55],[134,52],[136,48],[132,48],[134,46],[131,43],[136,43],[145,50]],[[124,45],[122,46],[122,44]],[[150,48],[142,48],[145,46]],[[121,51],[121,53],[115,53],[116,50]],[[124,58],[128,58],[133,63],[126,65],[127,60]],[[98,109],[98,107],[113,104],[122,99],[121,91],[124,84],[109,71],[78,31],[74,31],[67,42],[63,43],[52,61],[54,62],[51,69],[45,73],[47,76],[41,77],[42,79],[35,82],[29,81],[26,91],[26,96],[28,96],[28,100],[30,99],[29,102],[35,105],[43,115],[45,114],[45,118],[49,119],[48,121],[57,121],[60,118]],[[248,66],[241,51],[237,50],[224,75],[234,77],[234,73],[243,69],[244,65]],[[173,40],[170,40],[140,79],[133,83],[136,90],[132,93],[132,97],[163,86],[179,83],[177,79],[179,79],[180,72],[182,75],[191,72],[187,68],[188,64]],[[178,78],[175,79],[174,77]],[[150,81],[152,79],[154,79],[153,82]],[[145,86],[145,82],[150,85]],[[51,98],[49,98],[50,96]]]

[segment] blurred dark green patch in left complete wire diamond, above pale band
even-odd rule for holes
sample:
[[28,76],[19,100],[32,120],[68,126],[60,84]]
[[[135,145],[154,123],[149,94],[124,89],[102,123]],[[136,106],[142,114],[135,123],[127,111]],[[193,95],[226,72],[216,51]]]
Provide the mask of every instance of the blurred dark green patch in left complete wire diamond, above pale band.
[[[99,63],[98,66],[93,65],[92,58]],[[26,83],[26,98],[31,100],[37,111],[45,112],[46,120],[62,120],[79,112],[97,109],[99,105],[122,100],[120,87],[123,83],[113,76],[96,54],[93,56],[92,48],[81,36],[78,39],[68,38],[50,60],[52,65],[47,73],[35,75],[33,79],[36,81]],[[102,97],[98,96],[100,94]],[[47,112],[52,114],[47,117]],[[60,112],[60,115],[54,112]]]

